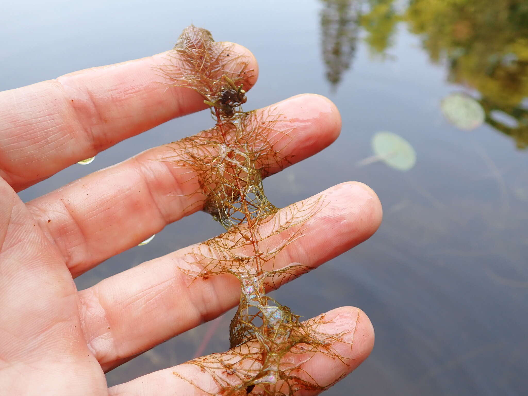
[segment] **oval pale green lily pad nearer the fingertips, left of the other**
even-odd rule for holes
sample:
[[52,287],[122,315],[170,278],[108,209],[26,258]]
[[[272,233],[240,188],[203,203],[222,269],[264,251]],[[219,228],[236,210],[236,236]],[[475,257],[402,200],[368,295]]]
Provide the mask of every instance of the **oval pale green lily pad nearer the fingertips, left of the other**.
[[399,171],[416,164],[416,152],[406,139],[392,132],[378,132],[372,138],[372,149],[381,161]]

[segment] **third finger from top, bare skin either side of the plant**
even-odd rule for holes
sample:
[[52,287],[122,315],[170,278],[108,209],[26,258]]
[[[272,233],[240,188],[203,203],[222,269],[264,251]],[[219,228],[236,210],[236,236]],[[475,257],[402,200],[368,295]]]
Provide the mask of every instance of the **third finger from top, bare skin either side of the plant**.
[[[294,210],[321,202],[324,204],[320,210],[308,217]],[[274,218],[295,224],[298,219],[291,213],[300,213],[302,223],[286,228],[270,243],[286,240],[299,229],[303,230],[303,237],[280,250],[275,256],[275,269],[292,262],[316,268],[369,238],[381,221],[378,197],[369,187],[355,182],[334,186],[290,205]],[[267,243],[267,240],[260,243],[262,249],[266,249]],[[194,246],[178,250],[80,292],[86,341],[103,369],[108,370],[129,356],[238,304],[240,283],[234,276],[223,274],[193,280],[184,273],[192,265],[188,258],[199,249],[200,246]],[[291,267],[289,273],[305,272],[306,267]],[[278,279],[274,286],[288,280],[288,277]]]

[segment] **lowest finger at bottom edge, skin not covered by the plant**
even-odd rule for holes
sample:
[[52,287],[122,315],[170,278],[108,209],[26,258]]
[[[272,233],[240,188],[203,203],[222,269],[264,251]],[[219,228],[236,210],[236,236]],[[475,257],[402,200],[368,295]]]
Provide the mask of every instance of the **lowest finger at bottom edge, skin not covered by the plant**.
[[[315,318],[317,321],[319,318]],[[301,379],[312,384],[326,388],[342,379],[359,366],[372,351],[374,346],[374,329],[369,318],[362,310],[353,307],[341,307],[324,314],[326,323],[317,326],[316,331],[327,334],[345,333],[342,341],[332,344],[336,354],[343,360],[316,353],[307,362],[301,364],[298,375]],[[217,354],[218,355],[218,354]],[[217,359],[215,355],[211,359]],[[309,356],[286,355],[283,359],[303,362]],[[236,361],[234,350],[222,354],[225,361]],[[225,381],[225,382],[224,382]],[[165,369],[144,375],[133,381],[113,386],[109,389],[110,396],[163,396],[177,394],[211,395],[221,394],[222,386],[219,383],[240,385],[236,375],[229,375],[224,367],[218,366],[216,370],[201,370],[201,367],[192,363],[184,363],[170,369]],[[287,390],[284,384],[280,391]],[[253,391],[258,391],[254,389]],[[311,396],[320,390],[302,390],[296,396]],[[250,393],[251,394],[251,393]],[[281,393],[282,394],[282,393]]]

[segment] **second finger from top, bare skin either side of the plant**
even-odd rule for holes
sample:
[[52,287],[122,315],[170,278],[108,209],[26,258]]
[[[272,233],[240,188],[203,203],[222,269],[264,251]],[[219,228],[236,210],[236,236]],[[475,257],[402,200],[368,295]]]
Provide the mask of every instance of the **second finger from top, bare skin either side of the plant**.
[[[283,158],[263,164],[269,172],[315,154],[341,129],[336,107],[318,95],[287,99],[254,112],[251,120]],[[172,153],[168,146],[147,150],[27,204],[73,276],[201,209],[197,181],[188,168],[174,165]]]

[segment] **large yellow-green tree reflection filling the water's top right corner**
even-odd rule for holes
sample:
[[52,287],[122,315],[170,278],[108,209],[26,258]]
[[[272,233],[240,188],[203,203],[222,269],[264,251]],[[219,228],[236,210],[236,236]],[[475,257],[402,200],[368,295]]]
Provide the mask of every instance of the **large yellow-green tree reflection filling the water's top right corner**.
[[[528,147],[528,3],[525,0],[413,0],[405,15],[449,81],[480,92],[486,122]],[[493,118],[501,110],[517,125]]]

